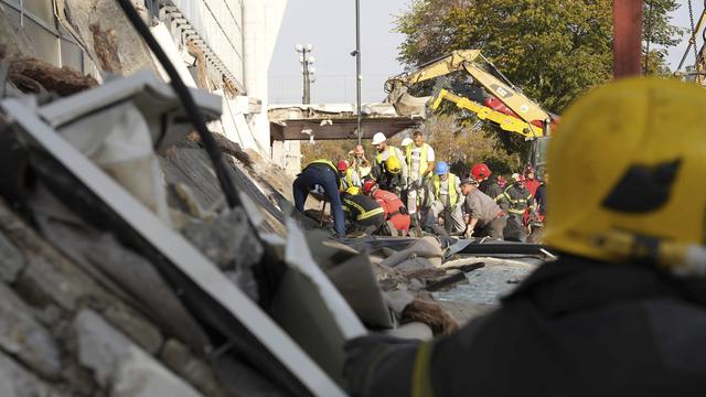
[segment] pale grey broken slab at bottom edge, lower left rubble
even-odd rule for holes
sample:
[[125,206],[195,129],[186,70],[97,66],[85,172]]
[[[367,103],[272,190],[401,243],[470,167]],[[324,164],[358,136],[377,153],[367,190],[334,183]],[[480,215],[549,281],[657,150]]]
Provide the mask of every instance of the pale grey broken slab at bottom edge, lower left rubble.
[[164,368],[92,310],[74,321],[78,361],[92,368],[96,382],[115,397],[199,397],[190,384]]

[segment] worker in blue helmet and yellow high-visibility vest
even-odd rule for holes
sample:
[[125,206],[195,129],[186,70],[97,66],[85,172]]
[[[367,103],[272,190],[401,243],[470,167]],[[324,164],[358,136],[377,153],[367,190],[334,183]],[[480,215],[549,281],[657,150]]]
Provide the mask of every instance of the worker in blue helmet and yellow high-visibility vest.
[[429,211],[430,218],[437,225],[443,223],[443,228],[448,234],[462,233],[466,229],[463,222],[463,193],[461,192],[461,181],[449,171],[446,161],[437,162],[431,180],[431,193],[434,202]]

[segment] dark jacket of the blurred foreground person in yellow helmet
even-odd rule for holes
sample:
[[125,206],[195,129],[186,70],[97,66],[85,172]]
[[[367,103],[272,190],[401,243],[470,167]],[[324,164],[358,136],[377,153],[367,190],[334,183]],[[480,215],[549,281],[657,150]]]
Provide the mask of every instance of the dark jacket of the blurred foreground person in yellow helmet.
[[385,345],[362,395],[703,396],[706,281],[564,256],[459,332]]

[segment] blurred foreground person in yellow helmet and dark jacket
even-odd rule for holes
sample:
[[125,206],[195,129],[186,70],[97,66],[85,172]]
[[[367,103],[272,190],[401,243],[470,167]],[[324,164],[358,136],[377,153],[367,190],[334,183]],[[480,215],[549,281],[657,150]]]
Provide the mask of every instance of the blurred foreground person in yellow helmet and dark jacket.
[[351,394],[704,396],[705,107],[702,87],[667,79],[574,105],[548,151],[559,259],[452,335],[350,342]]

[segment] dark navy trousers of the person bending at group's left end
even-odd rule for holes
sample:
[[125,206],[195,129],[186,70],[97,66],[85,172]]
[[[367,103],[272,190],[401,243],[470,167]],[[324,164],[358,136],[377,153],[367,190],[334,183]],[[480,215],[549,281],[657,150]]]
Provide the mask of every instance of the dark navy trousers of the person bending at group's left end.
[[292,184],[295,195],[295,206],[299,212],[304,212],[304,202],[309,196],[309,190],[314,185],[323,187],[327,201],[331,203],[331,214],[333,215],[333,224],[335,233],[339,236],[345,236],[345,221],[343,217],[343,206],[341,206],[341,196],[339,195],[339,185],[335,182],[335,173],[333,170],[324,167],[309,167],[297,176]]

